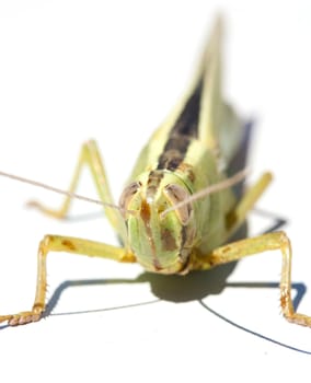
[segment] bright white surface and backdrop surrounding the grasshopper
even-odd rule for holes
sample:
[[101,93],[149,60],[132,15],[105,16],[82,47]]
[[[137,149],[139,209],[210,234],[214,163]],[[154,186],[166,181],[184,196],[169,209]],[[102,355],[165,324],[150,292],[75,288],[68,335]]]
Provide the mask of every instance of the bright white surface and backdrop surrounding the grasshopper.
[[[1,1],[0,170],[67,188],[81,143],[96,138],[117,198],[139,149],[187,83],[219,11],[227,21],[226,94],[242,116],[256,121],[251,181],[265,170],[275,174],[258,208],[287,220],[292,279],[310,289],[307,1]],[[96,197],[89,175],[78,192]],[[116,243],[96,206],[74,202],[72,219],[58,222],[24,209],[30,198],[54,206],[61,199],[0,179],[1,314],[31,307],[44,234]],[[253,213],[251,233],[270,223]],[[140,275],[137,283],[125,282]],[[306,376],[310,355],[263,338],[311,352],[311,329],[279,314],[278,289],[223,286],[278,282],[280,255],[244,259],[222,285],[218,275],[195,275],[183,285],[180,278],[143,275],[138,265],[50,254],[49,298],[65,281],[76,286],[62,290],[46,320],[0,327],[0,379],[262,382]],[[223,289],[214,291],[212,283]],[[263,337],[217,317],[198,298]],[[308,290],[299,311],[311,314]]]

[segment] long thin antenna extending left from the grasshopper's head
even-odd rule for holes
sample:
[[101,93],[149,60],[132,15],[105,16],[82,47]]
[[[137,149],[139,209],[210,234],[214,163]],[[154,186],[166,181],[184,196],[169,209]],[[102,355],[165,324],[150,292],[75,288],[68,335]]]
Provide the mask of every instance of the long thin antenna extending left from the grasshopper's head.
[[33,185],[33,186],[36,186],[36,187],[41,187],[41,188],[44,188],[44,189],[49,190],[49,192],[58,193],[58,194],[61,194],[61,195],[67,196],[69,198],[76,198],[76,199],[80,199],[80,200],[83,200],[83,201],[87,201],[87,202],[101,205],[101,206],[104,206],[104,207],[107,207],[107,208],[112,208],[112,209],[117,209],[117,210],[119,210],[123,213],[124,212],[127,212],[129,214],[134,214],[135,213],[135,211],[133,211],[133,210],[123,209],[119,206],[114,205],[114,204],[104,202],[104,201],[101,201],[99,199],[84,197],[84,196],[81,196],[79,194],[67,192],[67,190],[62,190],[62,189],[59,189],[57,187],[54,187],[54,186],[41,183],[38,181],[21,177],[21,176],[15,175],[15,174],[5,173],[5,172],[0,171],[0,176],[7,177],[7,178],[11,178],[11,179],[14,179],[14,181],[19,181],[19,182],[22,182],[24,184]]

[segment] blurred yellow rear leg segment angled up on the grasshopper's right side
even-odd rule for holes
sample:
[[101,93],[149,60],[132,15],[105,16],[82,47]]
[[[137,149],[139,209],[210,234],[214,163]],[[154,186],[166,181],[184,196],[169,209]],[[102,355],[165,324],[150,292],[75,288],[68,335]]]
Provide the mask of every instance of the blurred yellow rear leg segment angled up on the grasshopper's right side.
[[227,217],[227,228],[229,239],[234,232],[241,227],[245,221],[247,213],[256,201],[261,198],[265,189],[268,187],[272,182],[272,174],[264,173],[255,185],[253,185],[242,197],[240,202],[235,206]]

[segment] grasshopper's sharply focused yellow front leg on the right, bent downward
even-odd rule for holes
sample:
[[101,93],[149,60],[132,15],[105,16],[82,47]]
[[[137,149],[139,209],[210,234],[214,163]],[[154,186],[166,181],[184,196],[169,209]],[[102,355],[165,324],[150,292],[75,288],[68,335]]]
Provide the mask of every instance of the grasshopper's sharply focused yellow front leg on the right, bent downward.
[[284,316],[292,323],[311,327],[311,317],[295,313],[291,302],[291,246],[284,232],[274,232],[230,243],[205,256],[194,256],[192,268],[209,269],[214,266],[244,258],[265,251],[279,249],[283,255],[280,277],[280,306]]

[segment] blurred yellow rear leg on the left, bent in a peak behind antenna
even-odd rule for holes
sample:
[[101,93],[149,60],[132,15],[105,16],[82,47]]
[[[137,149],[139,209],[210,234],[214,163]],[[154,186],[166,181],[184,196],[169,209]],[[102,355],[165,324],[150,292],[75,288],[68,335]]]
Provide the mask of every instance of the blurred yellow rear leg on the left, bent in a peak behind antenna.
[[[99,193],[101,200],[104,202],[114,204],[111,195],[110,186],[107,183],[107,177],[105,174],[103,161],[101,159],[97,146],[93,140],[88,141],[82,146],[80,158],[79,158],[76,171],[73,173],[69,192],[74,193],[74,190],[77,189],[79,177],[83,165],[88,165],[88,167],[90,167],[90,171],[95,182],[96,190]],[[61,219],[67,216],[68,210],[70,208],[70,202],[71,202],[71,198],[65,197],[65,200],[59,209],[47,208],[37,201],[30,201],[28,205],[39,209],[45,214]],[[118,211],[107,207],[105,208],[105,214],[107,216],[112,225],[116,230],[119,230],[120,216]]]

